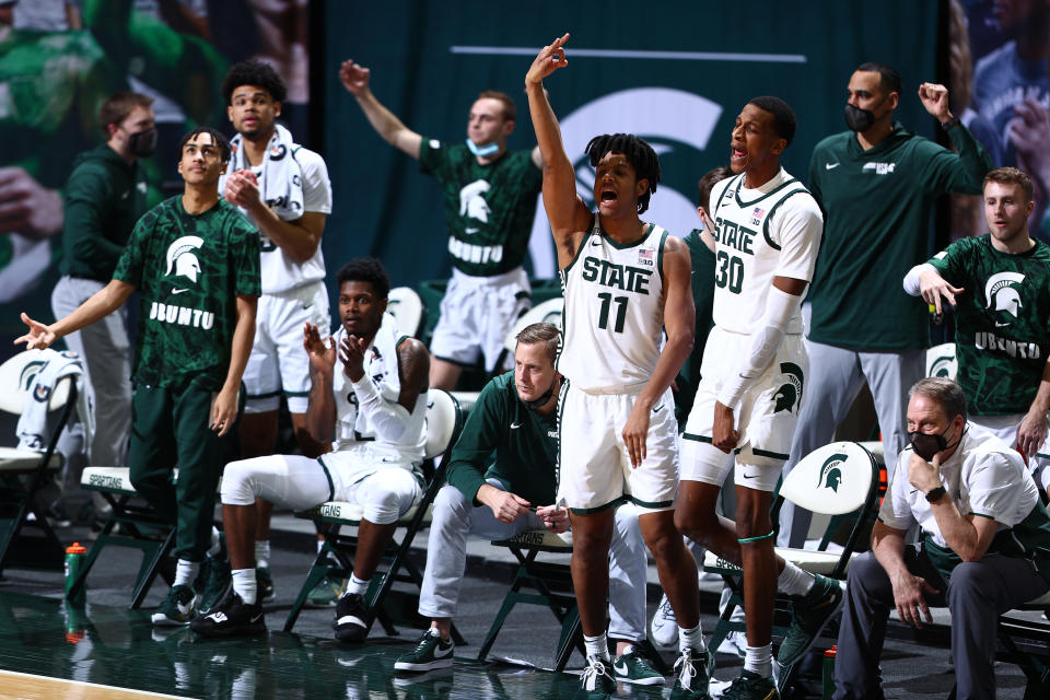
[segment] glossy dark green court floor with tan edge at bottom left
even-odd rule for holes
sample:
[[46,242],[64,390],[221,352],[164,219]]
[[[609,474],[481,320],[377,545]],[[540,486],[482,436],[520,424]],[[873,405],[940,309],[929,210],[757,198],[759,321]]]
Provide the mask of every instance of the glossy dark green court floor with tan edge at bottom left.
[[[0,700],[137,698],[569,698],[579,677],[457,658],[452,669],[393,673],[406,640],[342,645],[273,632],[201,640],[154,629],[150,611],[0,592]],[[632,692],[660,698],[666,689]]]

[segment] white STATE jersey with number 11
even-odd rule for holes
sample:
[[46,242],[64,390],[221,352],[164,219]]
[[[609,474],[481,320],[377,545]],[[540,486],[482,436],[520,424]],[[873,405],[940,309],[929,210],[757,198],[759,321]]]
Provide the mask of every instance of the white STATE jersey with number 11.
[[572,262],[561,270],[564,343],[558,371],[592,393],[641,390],[664,345],[664,241],[645,224],[642,237],[619,244],[598,214]]

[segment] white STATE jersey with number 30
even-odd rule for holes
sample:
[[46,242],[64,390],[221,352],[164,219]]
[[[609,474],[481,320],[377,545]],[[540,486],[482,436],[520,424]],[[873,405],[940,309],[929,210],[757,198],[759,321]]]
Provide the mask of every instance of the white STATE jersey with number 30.
[[[711,190],[714,220],[714,312],[716,326],[750,334],[766,315],[774,277],[813,280],[824,217],[813,195],[783,168],[756,189],[744,174]],[[808,289],[807,289],[808,291]],[[788,324],[802,332],[802,316]]]

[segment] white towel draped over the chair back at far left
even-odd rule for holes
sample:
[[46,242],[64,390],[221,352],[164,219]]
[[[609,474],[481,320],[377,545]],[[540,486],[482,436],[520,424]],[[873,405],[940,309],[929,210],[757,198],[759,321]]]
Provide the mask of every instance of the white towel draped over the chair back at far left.
[[[78,412],[84,423],[84,438],[90,441],[94,434],[94,412],[88,406],[86,392],[83,390],[83,366],[80,355],[69,350],[58,352],[50,348],[38,352],[40,364],[34,362],[26,365],[23,375],[31,384],[22,407],[22,416],[15,428],[19,448],[42,451],[47,447],[47,405],[59,380],[70,374],[77,375]],[[28,372],[34,374],[25,376]]]

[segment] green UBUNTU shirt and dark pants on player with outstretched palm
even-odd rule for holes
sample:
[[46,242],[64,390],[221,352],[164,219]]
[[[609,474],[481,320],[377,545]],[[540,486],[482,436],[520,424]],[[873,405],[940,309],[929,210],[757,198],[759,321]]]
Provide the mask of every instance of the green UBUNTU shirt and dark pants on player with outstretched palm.
[[[182,196],[151,209],[114,279],[140,294],[129,466],[136,489],[177,522],[175,553],[200,561],[231,436],[210,429],[230,369],[236,299],[257,296],[258,232],[220,199],[189,214]],[[172,469],[179,478],[172,485]]]

